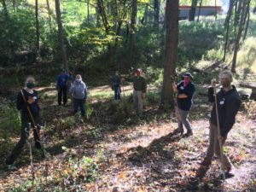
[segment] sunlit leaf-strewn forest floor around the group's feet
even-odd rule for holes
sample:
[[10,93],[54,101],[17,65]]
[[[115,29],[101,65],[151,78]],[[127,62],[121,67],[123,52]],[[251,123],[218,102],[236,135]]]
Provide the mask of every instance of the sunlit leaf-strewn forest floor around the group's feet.
[[[84,120],[71,116],[70,101],[57,106],[53,88],[39,90],[46,158],[32,148],[32,187],[27,145],[17,170],[10,171],[3,160],[19,135],[1,143],[0,191],[256,191],[255,102],[243,104],[224,146],[235,166],[235,175],[224,182],[216,158],[212,166],[201,166],[211,110],[206,96],[195,98],[189,116],[194,135],[182,137],[175,114],[160,111],[158,102],[146,104],[143,119],[130,113],[131,86],[125,86],[123,105],[97,99],[102,96],[97,93],[112,94],[108,86],[90,88],[90,118]],[[118,113],[111,109],[115,105]]]

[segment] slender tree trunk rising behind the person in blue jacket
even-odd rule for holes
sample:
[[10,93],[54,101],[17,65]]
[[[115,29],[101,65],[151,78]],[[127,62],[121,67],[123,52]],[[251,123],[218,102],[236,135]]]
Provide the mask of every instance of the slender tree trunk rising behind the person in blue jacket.
[[68,70],[67,53],[66,53],[64,40],[63,40],[63,29],[62,29],[62,21],[61,21],[61,6],[60,6],[59,0],[55,0],[55,11],[56,11],[56,20],[57,20],[57,24],[58,24],[58,40],[59,40],[59,47],[60,47],[60,55],[61,55],[63,67],[65,67],[65,70]]

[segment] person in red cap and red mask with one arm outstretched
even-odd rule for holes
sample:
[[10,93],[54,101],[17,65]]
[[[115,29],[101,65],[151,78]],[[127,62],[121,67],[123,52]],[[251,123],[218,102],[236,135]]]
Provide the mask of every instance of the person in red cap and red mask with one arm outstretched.
[[143,99],[146,96],[147,92],[147,83],[146,79],[142,76],[142,69],[138,68],[136,70],[136,75],[132,79],[126,79],[133,83],[133,104],[137,116],[143,116]]

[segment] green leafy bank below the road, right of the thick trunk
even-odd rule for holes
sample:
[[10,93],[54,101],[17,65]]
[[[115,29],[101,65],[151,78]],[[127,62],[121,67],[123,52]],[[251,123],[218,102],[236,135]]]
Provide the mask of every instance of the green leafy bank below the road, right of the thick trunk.
[[224,27],[214,20],[207,22],[180,22],[178,49],[183,53],[182,62],[177,60],[178,67],[183,67],[184,61],[198,61],[202,55],[207,55],[207,50],[219,49],[222,44]]

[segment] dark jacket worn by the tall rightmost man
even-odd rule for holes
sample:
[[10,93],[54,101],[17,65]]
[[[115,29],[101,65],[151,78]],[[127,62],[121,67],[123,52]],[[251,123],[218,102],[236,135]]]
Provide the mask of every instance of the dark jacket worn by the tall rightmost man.
[[[217,126],[215,98],[213,94],[214,90],[211,87],[208,89],[208,100],[209,102],[214,102],[214,104],[211,112],[210,121],[213,125]],[[224,89],[221,89],[217,93],[217,103],[220,135],[222,137],[227,137],[228,132],[235,124],[236,113],[241,105],[241,100],[237,93],[236,87],[232,85],[232,90],[229,90],[228,92],[225,92]]]

